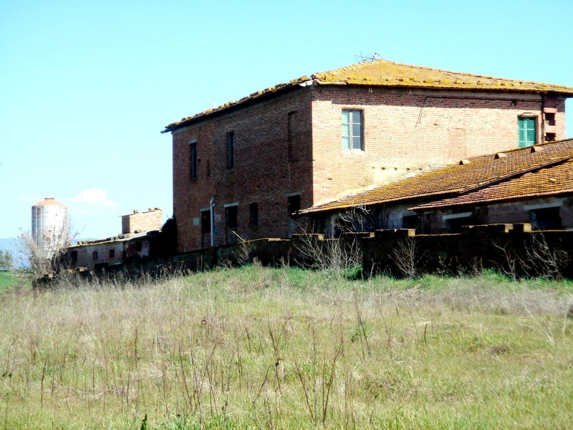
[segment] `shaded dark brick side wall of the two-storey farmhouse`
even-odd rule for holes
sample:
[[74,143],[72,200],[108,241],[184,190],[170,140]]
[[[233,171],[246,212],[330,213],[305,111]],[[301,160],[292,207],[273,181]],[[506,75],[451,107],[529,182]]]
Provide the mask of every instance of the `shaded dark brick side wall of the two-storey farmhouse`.
[[[296,111],[288,142],[289,112]],[[235,168],[227,170],[226,134],[234,131]],[[190,178],[189,142],[197,139],[197,178]],[[288,161],[291,144],[292,162]],[[207,162],[210,176],[207,176]],[[201,208],[215,196],[215,244],[236,241],[225,228],[225,204],[238,203],[238,227],[244,239],[288,234],[286,193],[301,193],[301,206],[311,206],[311,99],[301,89],[234,114],[221,116],[173,135],[173,204],[178,250],[207,247],[201,234]],[[258,228],[249,225],[250,204],[258,203]]]

